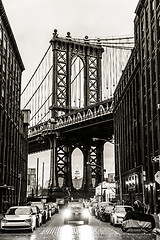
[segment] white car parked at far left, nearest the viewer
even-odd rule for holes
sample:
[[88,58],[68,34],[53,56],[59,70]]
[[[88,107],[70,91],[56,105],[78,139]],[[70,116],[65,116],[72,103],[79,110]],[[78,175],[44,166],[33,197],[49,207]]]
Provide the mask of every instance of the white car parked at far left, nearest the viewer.
[[36,229],[36,215],[30,206],[10,207],[1,221],[2,231]]

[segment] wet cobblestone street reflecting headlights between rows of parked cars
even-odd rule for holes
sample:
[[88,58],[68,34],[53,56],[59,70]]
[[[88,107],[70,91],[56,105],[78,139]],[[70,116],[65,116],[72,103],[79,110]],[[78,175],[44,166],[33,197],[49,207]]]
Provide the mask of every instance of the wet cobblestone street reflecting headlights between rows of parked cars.
[[46,224],[33,233],[0,233],[0,240],[160,240],[160,235],[123,233],[120,227],[101,222],[90,216],[88,225],[81,222],[64,225],[63,210],[52,216]]

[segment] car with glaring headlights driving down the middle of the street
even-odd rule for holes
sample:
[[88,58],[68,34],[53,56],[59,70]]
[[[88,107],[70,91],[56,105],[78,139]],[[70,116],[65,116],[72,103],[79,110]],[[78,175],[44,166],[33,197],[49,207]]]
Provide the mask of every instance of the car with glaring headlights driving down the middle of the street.
[[82,202],[68,203],[68,207],[64,210],[64,224],[70,221],[83,221],[84,224],[88,224],[89,211]]

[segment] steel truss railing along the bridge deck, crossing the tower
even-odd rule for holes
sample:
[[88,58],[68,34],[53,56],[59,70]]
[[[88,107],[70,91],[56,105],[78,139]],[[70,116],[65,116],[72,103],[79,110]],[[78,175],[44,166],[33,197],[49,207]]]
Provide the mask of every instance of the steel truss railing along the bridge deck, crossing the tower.
[[61,128],[65,128],[80,122],[98,118],[103,115],[110,114],[112,112],[113,112],[113,99],[109,99],[107,101],[102,101],[95,105],[75,110],[72,113],[68,113],[60,117],[57,117],[54,122],[48,120],[41,124],[35,125],[29,128],[28,136],[34,137],[39,134],[49,134]]

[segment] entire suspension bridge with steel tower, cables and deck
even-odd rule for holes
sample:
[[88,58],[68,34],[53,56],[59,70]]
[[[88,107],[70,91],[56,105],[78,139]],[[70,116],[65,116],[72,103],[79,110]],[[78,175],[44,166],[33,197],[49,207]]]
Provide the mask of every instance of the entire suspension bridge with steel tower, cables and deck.
[[[29,154],[50,149],[51,197],[91,197],[103,181],[103,148],[111,140],[113,94],[134,46],[133,36],[84,39],[54,30],[49,47],[21,93],[30,109]],[[72,182],[72,154],[83,155],[82,187]],[[74,159],[76,161],[76,159]]]

